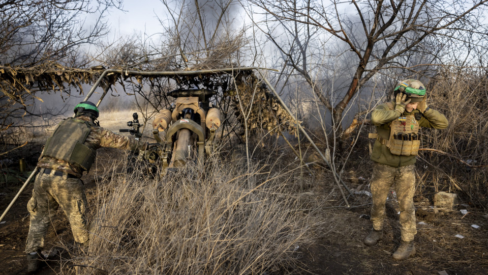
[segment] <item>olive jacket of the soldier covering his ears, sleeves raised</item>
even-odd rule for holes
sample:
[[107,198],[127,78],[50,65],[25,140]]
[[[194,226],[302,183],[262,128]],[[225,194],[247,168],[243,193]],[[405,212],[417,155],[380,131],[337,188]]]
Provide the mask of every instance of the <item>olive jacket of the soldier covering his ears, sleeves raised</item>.
[[[392,102],[394,105],[394,102]],[[418,110],[413,110],[413,114],[420,113]],[[375,108],[371,113],[371,122],[376,125],[376,131],[383,139],[388,140],[390,135],[390,122],[397,119],[401,115],[408,115],[405,111],[400,114],[399,111],[390,109],[387,104],[381,104]],[[421,115],[421,119],[418,120],[420,127],[444,129],[447,128],[448,122],[444,115],[438,111],[430,108]],[[373,151],[371,153],[371,160],[386,164],[392,167],[407,166],[416,162],[416,156],[400,156],[393,155],[386,145],[381,144],[378,140],[375,141]]]

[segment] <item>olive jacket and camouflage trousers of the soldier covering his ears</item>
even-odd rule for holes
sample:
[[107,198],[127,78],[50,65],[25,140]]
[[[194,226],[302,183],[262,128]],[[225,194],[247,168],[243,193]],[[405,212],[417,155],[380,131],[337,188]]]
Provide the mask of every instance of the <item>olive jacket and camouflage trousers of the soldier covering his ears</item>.
[[[394,102],[389,103],[394,105]],[[413,114],[418,117],[420,127],[443,129],[447,127],[447,119],[441,113],[429,108],[423,114],[417,109],[411,113],[405,111],[400,114],[388,107],[388,104],[379,105],[371,114],[371,121],[376,125],[378,135],[388,139],[389,124],[399,116]],[[385,218],[385,202],[391,185],[395,184],[396,198],[400,206],[400,225],[403,241],[412,241],[417,233],[415,224],[415,207],[413,196],[415,194],[415,155],[393,155],[386,145],[375,141],[371,159],[373,176],[371,180],[371,193],[373,194],[373,207],[371,208],[371,221],[373,229],[382,230]]]

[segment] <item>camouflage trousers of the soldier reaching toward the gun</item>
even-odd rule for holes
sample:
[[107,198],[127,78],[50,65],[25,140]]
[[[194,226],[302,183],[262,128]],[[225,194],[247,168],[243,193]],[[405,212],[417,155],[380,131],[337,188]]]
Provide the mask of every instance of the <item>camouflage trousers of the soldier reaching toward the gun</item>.
[[40,173],[34,182],[32,198],[27,203],[27,210],[31,213],[31,224],[27,235],[26,253],[44,248],[44,238],[59,205],[68,217],[75,241],[88,241],[85,218],[87,203],[81,180],[67,178],[66,173],[63,176]]

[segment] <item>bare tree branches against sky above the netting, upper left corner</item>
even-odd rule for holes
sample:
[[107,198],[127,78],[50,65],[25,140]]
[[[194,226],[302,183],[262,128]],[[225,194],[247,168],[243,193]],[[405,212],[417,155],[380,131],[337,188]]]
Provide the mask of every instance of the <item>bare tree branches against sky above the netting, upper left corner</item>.
[[87,65],[80,47],[97,43],[107,34],[104,16],[111,7],[120,8],[121,1],[10,0],[0,4],[0,64]]

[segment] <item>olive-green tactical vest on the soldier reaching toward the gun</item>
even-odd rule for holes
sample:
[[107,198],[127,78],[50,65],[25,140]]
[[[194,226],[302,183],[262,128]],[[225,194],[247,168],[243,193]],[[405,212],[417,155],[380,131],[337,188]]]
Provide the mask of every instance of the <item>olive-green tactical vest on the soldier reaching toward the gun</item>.
[[60,122],[47,140],[41,157],[61,159],[70,164],[78,164],[83,170],[89,170],[95,161],[95,150],[83,143],[91,126],[87,121],[73,118]]

